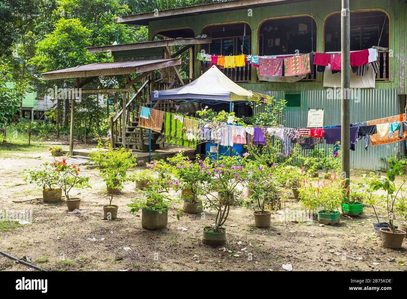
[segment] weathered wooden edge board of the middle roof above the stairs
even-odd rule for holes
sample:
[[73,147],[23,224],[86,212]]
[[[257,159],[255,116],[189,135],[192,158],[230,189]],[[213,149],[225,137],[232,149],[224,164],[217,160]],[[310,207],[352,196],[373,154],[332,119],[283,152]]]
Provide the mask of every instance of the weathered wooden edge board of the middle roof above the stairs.
[[177,39],[164,39],[160,41],[148,41],[142,43],[124,44],[124,45],[109,45],[87,48],[88,53],[98,53],[107,51],[127,51],[138,49],[158,48],[164,46],[184,46],[184,45],[197,45],[197,44],[210,44],[212,37],[198,37],[198,38],[177,38]]

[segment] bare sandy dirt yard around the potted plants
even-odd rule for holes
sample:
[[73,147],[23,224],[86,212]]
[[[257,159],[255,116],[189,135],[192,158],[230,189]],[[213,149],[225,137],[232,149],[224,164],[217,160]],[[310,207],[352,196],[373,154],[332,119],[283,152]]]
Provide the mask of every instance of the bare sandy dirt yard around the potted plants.
[[[114,197],[114,204],[119,206],[118,219],[102,220],[102,206],[108,203],[105,185],[96,170],[85,167],[81,167],[81,172],[90,177],[92,189],[72,191],[72,196],[81,198],[81,210],[85,213],[68,214],[64,202],[13,203],[42,197],[42,189],[24,182],[22,175],[24,169],[39,168],[46,161],[53,162],[48,151],[0,158],[0,210],[33,213],[32,224],[0,229],[0,250],[18,258],[30,257],[33,264],[47,270],[285,271],[282,264],[292,264],[293,271],[407,269],[398,264],[407,260],[407,241],[400,250],[383,249],[381,241],[372,235],[372,223],[376,220],[371,207],[364,207],[361,216],[341,215],[339,226],[319,226],[315,218],[312,224],[284,223],[284,217],[276,213],[269,229],[254,227],[252,210],[233,207],[225,225],[225,248],[212,248],[202,244],[201,237],[203,227],[214,221],[213,211],[206,211],[205,217],[184,214],[177,220],[173,207],[167,229],[142,229],[141,212],[129,214],[126,207],[138,195],[132,183]],[[352,179],[361,173],[354,171]],[[283,207],[299,210],[291,190],[287,194],[289,199]],[[171,192],[171,196],[179,194]],[[4,255],[0,255],[0,270],[35,271]]]

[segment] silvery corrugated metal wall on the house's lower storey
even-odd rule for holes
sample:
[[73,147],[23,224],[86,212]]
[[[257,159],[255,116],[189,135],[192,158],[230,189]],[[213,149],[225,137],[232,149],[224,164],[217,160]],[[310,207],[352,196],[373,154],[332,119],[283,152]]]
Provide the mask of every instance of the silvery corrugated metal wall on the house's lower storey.
[[[284,98],[284,92],[267,92],[274,97]],[[361,90],[360,101],[352,101],[350,105],[350,122],[363,122],[400,113],[397,89],[365,89]],[[333,126],[341,124],[341,100],[331,98],[326,90],[308,90],[301,92],[301,108],[290,107],[284,114],[286,127],[306,127],[308,108],[324,109],[324,125]],[[259,105],[255,113],[264,111],[264,106]],[[366,151],[364,139],[359,140],[355,151],[350,151],[350,167],[354,169],[379,170],[387,165],[381,158],[389,155],[396,156],[402,152],[405,141],[390,144],[369,146]],[[333,147],[330,144],[321,144],[315,148]],[[303,151],[304,154],[310,150]]]

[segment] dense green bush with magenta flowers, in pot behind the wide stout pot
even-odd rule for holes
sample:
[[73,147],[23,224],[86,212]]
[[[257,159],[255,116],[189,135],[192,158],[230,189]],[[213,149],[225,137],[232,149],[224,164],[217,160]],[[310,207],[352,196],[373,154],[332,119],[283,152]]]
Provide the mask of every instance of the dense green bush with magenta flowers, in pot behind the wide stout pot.
[[[199,159],[199,163],[203,161]],[[170,185],[175,190],[181,190],[181,199],[183,200],[184,212],[189,214],[196,214],[202,212],[202,200],[199,199],[201,195],[201,186],[206,178],[206,174],[201,171],[198,163],[193,163],[188,157],[184,156],[184,152],[179,152],[167,161],[172,165],[172,172],[177,179],[171,181]]]

